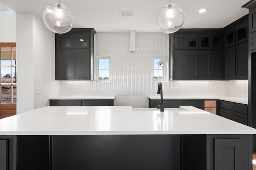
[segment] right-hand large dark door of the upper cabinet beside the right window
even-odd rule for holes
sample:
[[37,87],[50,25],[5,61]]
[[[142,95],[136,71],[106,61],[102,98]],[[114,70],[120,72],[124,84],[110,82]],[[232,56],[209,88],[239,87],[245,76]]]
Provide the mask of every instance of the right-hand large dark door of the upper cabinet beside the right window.
[[198,51],[186,51],[185,80],[198,79]]

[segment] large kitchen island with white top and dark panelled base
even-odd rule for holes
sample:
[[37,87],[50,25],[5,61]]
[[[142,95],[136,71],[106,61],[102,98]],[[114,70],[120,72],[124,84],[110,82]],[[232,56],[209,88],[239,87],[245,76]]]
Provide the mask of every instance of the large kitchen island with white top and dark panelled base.
[[255,133],[192,106],[42,107],[0,120],[0,167],[251,170]]

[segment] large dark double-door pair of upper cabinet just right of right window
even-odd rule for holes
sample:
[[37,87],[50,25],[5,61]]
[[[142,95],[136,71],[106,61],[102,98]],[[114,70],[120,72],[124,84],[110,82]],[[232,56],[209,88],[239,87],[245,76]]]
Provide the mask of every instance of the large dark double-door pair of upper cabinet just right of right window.
[[175,51],[173,57],[174,80],[198,79],[198,51]]

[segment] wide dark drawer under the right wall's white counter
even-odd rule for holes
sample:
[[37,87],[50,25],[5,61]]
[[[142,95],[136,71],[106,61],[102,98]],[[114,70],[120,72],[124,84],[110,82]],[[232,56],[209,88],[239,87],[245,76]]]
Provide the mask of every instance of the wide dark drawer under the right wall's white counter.
[[243,113],[246,115],[248,114],[248,105],[246,105],[246,104],[220,101],[220,107],[223,109],[236,111],[236,112]]

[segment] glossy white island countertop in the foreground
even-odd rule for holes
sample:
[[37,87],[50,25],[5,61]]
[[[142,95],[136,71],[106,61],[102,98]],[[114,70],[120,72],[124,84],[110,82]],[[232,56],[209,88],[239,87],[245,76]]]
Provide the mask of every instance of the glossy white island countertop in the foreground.
[[[148,109],[148,108],[145,108]],[[256,129],[192,106],[42,107],[0,120],[0,135],[256,134]]]

